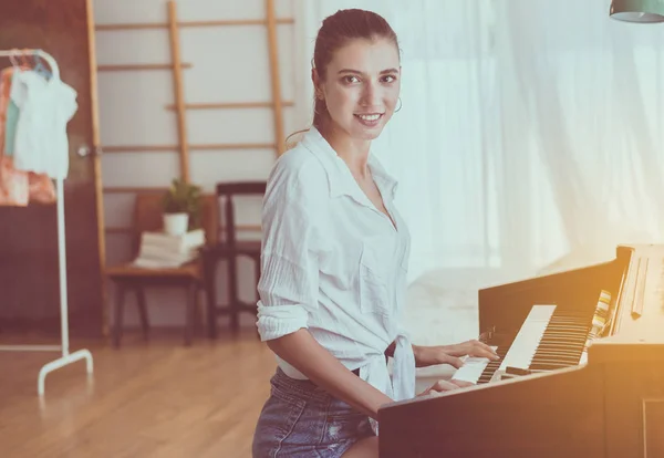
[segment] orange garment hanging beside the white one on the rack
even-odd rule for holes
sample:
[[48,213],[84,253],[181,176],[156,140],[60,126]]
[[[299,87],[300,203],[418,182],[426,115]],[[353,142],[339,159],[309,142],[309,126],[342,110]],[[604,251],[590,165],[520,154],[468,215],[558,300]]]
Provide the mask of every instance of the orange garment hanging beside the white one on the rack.
[[0,206],[27,207],[30,200],[52,204],[55,201],[55,187],[51,178],[46,174],[17,170],[13,157],[4,154],[7,110],[13,72],[13,66],[0,72]]

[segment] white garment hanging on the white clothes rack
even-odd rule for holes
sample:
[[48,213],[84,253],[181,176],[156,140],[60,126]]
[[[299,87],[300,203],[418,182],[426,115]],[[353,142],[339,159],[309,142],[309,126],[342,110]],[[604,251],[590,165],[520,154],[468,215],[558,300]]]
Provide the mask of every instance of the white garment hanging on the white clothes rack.
[[17,169],[66,178],[66,123],[79,108],[76,95],[58,77],[45,80],[33,71],[14,73],[11,98],[20,108],[14,140]]

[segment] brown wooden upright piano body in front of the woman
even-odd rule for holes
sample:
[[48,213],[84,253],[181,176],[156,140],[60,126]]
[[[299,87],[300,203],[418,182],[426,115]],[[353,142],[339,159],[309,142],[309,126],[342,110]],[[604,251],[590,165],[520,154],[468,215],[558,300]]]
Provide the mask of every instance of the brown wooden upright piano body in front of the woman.
[[[664,457],[663,285],[664,246],[620,246],[606,263],[480,290],[479,331],[505,360],[533,305],[556,305],[556,326],[519,375],[488,364],[474,386],[383,407],[381,458]],[[602,291],[610,321],[582,358]]]

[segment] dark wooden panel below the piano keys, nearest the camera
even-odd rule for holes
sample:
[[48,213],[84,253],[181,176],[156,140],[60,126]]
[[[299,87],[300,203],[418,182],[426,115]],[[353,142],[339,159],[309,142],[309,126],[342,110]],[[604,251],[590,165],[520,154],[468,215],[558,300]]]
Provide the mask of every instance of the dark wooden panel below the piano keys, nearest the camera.
[[602,457],[601,371],[571,368],[380,412],[381,458]]

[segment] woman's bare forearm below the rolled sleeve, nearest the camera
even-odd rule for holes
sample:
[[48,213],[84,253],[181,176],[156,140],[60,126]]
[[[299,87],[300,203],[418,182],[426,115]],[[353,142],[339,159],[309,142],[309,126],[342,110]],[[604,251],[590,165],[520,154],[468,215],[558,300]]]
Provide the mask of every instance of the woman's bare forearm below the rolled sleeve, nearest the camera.
[[373,419],[378,408],[392,403],[388,396],[357,377],[323,348],[305,329],[267,341],[279,357],[287,361],[332,396],[350,404]]

